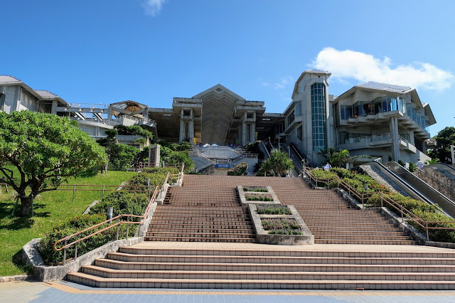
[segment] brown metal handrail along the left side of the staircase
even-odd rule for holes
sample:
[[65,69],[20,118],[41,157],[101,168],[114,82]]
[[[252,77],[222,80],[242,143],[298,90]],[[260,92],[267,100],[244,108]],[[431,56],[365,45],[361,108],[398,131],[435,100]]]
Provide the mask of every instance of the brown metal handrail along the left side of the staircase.
[[[66,251],[68,250],[68,248],[70,246],[75,245],[75,257],[74,257],[74,260],[76,260],[77,259],[77,245],[78,245],[78,243],[80,243],[83,240],[86,240],[88,238],[91,238],[94,235],[97,235],[97,234],[102,233],[102,232],[104,232],[106,230],[109,230],[111,228],[117,228],[117,232],[116,232],[116,235],[115,235],[115,240],[119,240],[119,227],[122,224],[126,224],[127,225],[127,236],[126,236],[126,238],[128,240],[128,238],[129,238],[129,225],[131,225],[131,224],[142,225],[142,224],[144,224],[146,222],[146,220],[147,220],[147,218],[149,216],[150,208],[153,206],[158,194],[162,193],[164,191],[164,187],[166,186],[166,184],[168,184],[168,181],[171,178],[171,176],[178,176],[177,177],[177,181],[183,180],[183,170],[185,169],[185,163],[183,163],[181,165],[182,165],[181,171],[178,174],[171,174],[171,172],[168,171],[168,173],[166,174],[166,178],[164,179],[164,182],[163,182],[163,185],[161,186],[161,188],[159,188],[158,186],[155,186],[154,193],[151,195],[149,203],[147,204],[147,207],[146,207],[146,209],[144,211],[144,214],[142,216],[137,216],[137,215],[132,215],[132,214],[120,214],[120,215],[118,215],[118,216],[116,216],[114,218],[107,219],[107,220],[105,220],[105,221],[103,221],[101,223],[97,223],[95,225],[90,226],[89,228],[85,228],[84,230],[80,230],[77,233],[73,233],[72,235],[67,235],[65,238],[61,238],[60,240],[55,241],[54,246],[53,246],[54,250],[57,251],[57,252],[63,250],[63,265],[65,265],[65,263],[66,263]],[[124,218],[126,218],[127,220],[125,221]],[[140,218],[141,220],[140,221],[134,221],[134,218]],[[113,223],[114,220],[117,220],[117,222]],[[94,230],[95,228],[98,228],[101,225],[107,224],[107,223],[111,223],[111,224],[109,224],[105,228],[102,228],[101,230],[96,230],[95,232],[90,233],[90,235],[86,235],[83,238],[80,238],[80,235],[82,233],[85,233],[85,232],[87,232],[89,230]],[[71,239],[74,239],[74,240],[72,242],[68,243]],[[62,243],[62,242],[64,243],[63,246],[61,246],[60,248],[57,248],[58,243]]]

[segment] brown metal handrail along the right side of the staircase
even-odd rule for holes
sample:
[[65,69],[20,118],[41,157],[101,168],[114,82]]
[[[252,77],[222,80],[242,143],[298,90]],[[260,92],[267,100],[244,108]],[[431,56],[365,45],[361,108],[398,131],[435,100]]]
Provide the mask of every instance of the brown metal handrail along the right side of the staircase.
[[[368,200],[371,198],[371,196],[378,194],[381,199],[381,208],[384,207],[384,204],[391,206],[394,208],[398,213],[400,213],[402,222],[405,222],[405,218],[407,220],[411,220],[417,225],[419,225],[422,230],[425,230],[427,232],[427,241],[429,241],[429,230],[455,230],[455,221],[426,221],[419,216],[415,215],[412,213],[412,211],[407,210],[402,204],[398,203],[397,201],[393,200],[389,196],[387,196],[385,193],[382,193],[382,191],[375,191],[373,193],[359,193],[355,188],[347,184],[343,179],[341,179],[338,176],[334,176],[332,178],[316,178],[311,174],[311,168],[304,166],[303,172],[306,174],[309,178],[309,181],[314,181],[316,184],[316,187],[318,187],[318,184],[326,184],[328,186],[328,189],[330,189],[330,184],[333,181],[337,182],[338,188],[342,186],[345,188],[350,196],[355,196],[355,198],[358,199],[358,201],[362,202],[362,206],[364,205],[364,201]],[[364,208],[365,209],[365,208]],[[431,226],[431,225],[438,225],[438,224],[453,224],[454,227],[448,227],[448,226]]]

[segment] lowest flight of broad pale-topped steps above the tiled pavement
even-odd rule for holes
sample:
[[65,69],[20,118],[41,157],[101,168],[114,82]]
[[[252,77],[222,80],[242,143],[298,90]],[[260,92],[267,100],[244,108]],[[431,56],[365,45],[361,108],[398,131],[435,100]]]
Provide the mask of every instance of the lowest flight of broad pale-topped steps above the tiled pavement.
[[120,248],[82,267],[82,272],[68,274],[68,280],[122,288],[455,289],[455,252],[447,249],[397,252],[405,245],[375,245],[377,251],[363,251],[354,245],[348,245],[348,250],[338,245],[324,245],[321,250],[322,245],[316,245],[316,250],[251,243],[237,244],[240,247],[213,243],[218,248],[206,248],[208,243],[159,244]]

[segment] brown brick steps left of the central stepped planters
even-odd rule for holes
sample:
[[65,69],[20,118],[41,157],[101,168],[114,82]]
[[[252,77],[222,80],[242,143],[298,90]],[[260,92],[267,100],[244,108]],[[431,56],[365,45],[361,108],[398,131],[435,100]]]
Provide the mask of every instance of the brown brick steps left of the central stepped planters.
[[169,188],[144,240],[254,243],[256,235],[234,188],[182,186]]

